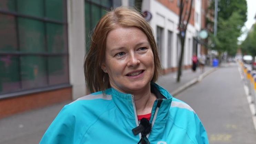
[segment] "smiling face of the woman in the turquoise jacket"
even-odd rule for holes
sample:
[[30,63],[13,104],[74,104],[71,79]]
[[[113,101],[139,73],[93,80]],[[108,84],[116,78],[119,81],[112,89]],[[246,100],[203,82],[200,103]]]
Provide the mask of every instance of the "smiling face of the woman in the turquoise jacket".
[[145,33],[136,27],[117,27],[106,38],[102,70],[110,85],[124,93],[150,87],[154,74],[154,55]]

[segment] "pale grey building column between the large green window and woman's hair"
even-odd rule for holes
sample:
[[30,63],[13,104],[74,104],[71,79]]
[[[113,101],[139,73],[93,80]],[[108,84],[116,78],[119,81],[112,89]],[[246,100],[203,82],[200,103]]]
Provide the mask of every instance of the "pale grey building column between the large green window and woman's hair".
[[84,0],[68,0],[69,80],[72,99],[86,94],[83,73],[85,55]]

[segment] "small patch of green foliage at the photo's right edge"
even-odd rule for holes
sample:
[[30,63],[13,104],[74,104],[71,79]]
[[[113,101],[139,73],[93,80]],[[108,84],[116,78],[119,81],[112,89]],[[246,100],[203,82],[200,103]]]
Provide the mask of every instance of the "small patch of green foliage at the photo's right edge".
[[256,24],[253,25],[241,44],[241,50],[244,54],[256,55]]

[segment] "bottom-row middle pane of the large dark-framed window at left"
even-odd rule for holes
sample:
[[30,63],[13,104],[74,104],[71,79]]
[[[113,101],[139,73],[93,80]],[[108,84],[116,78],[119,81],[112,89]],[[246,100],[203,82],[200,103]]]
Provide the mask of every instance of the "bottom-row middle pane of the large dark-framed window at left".
[[46,58],[43,56],[21,56],[22,89],[47,86]]

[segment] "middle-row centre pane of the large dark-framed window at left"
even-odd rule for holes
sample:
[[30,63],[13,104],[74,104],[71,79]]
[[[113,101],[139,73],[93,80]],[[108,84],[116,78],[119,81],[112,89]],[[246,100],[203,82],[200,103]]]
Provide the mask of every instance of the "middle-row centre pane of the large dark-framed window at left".
[[44,24],[41,21],[18,18],[20,50],[45,52]]

